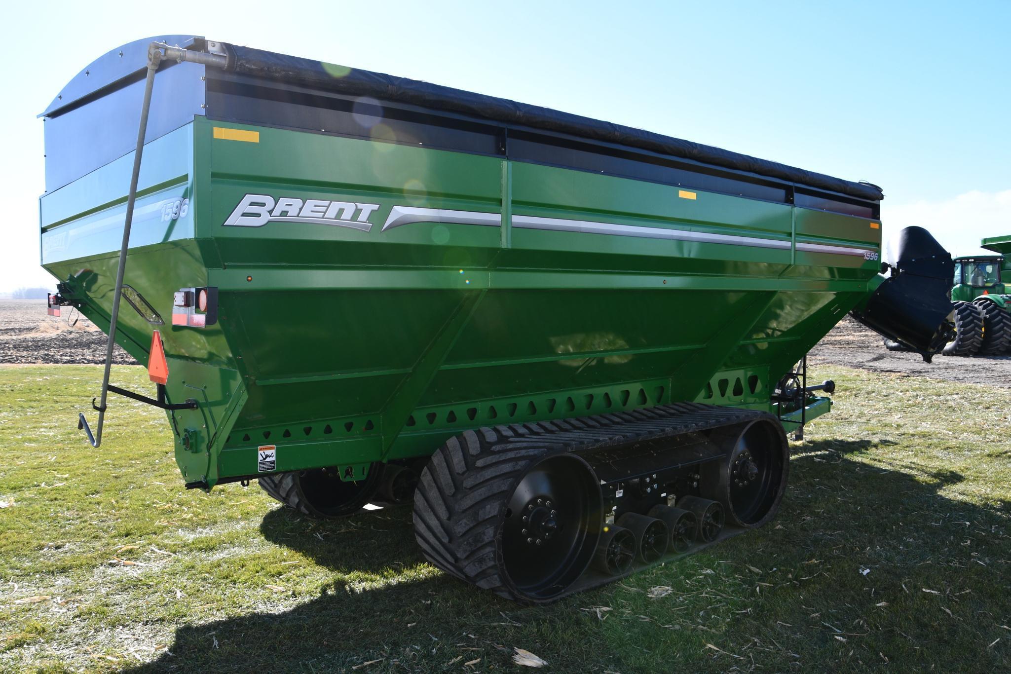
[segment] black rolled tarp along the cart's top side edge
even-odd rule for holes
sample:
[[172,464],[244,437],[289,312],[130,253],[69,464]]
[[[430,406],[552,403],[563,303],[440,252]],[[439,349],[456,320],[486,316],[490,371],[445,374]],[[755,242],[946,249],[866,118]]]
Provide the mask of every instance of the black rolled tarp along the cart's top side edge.
[[366,70],[324,64],[284,54],[227,44],[229,68],[239,75],[279,80],[350,96],[416,105],[432,110],[488,119],[504,124],[565,133],[577,137],[647,150],[702,164],[745,171],[790,183],[880,201],[880,187],[870,183],[833,178],[786,164],[769,162],[691,140],[673,138],[631,126],[559,112],[505,98],[475,94],[461,89],[393,77]]

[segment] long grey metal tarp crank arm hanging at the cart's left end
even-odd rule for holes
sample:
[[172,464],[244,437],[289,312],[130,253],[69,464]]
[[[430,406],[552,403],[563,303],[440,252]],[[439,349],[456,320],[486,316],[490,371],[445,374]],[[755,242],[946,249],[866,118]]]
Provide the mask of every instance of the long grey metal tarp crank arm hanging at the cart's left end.
[[109,314],[109,339],[105,343],[105,370],[102,373],[102,393],[100,401],[97,405],[95,404],[94,398],[91,400],[91,406],[98,411],[98,425],[95,428],[95,432],[92,434],[91,426],[88,425],[88,419],[84,416],[84,412],[81,412],[77,421],[78,429],[84,429],[84,431],[88,434],[88,442],[91,443],[92,447],[98,447],[102,444],[102,426],[105,422],[106,409],[105,401],[109,391],[118,393],[119,395],[124,395],[134,400],[140,400],[141,402],[155,405],[156,407],[161,407],[162,409],[193,409],[196,407],[196,402],[193,400],[187,400],[186,402],[178,404],[167,403],[165,400],[164,384],[158,384],[157,400],[131,391],[126,391],[125,389],[121,389],[117,386],[109,385],[109,375],[112,368],[112,351],[116,344],[116,322],[119,318],[119,303],[122,299],[123,273],[126,270],[126,250],[129,248],[129,231],[130,226],[133,224],[133,204],[136,201],[136,185],[141,177],[141,157],[144,154],[144,139],[148,134],[148,113],[151,111],[151,94],[155,89],[155,74],[162,65],[162,61],[170,59],[176,61],[177,63],[189,61],[191,63],[202,64],[204,66],[215,66],[218,68],[227,68],[228,66],[227,57],[217,54],[183,50],[178,46],[169,46],[168,44],[163,44],[161,42],[152,42],[151,46],[148,47],[148,74],[144,84],[144,103],[141,105],[141,123],[136,133],[136,148],[133,151],[133,171],[130,174],[129,192],[126,196],[126,216],[123,222],[123,238],[122,244],[119,246],[119,264],[116,267],[116,286],[112,295],[112,311]]

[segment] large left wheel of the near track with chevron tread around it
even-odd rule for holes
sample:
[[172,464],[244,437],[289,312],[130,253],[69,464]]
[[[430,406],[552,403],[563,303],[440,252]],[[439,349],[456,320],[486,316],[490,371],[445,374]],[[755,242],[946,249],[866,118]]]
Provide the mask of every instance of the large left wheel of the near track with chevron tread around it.
[[564,450],[510,444],[509,426],[451,438],[415,492],[430,562],[508,599],[544,603],[586,567],[604,524],[592,469]]

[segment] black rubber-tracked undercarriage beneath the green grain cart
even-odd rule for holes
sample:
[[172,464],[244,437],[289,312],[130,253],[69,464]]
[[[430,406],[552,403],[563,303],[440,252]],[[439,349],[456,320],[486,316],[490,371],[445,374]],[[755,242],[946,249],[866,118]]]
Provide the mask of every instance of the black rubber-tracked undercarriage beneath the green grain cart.
[[[680,403],[483,427],[447,441],[421,470],[416,538],[461,580],[550,602],[760,526],[779,505],[788,467],[782,424],[752,410]],[[261,484],[305,514],[339,516],[377,492],[403,498],[404,471],[375,466],[354,483],[288,473]]]

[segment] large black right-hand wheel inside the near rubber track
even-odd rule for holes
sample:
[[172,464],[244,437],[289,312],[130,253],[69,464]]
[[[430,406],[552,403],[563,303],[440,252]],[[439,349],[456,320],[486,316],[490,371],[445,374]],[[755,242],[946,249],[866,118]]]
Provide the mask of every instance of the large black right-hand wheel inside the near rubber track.
[[703,489],[723,505],[727,520],[755,528],[774,515],[787,488],[790,446],[783,426],[759,419],[744,426],[730,454],[702,469]]

